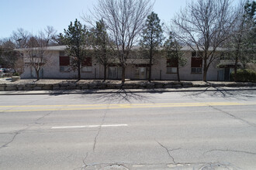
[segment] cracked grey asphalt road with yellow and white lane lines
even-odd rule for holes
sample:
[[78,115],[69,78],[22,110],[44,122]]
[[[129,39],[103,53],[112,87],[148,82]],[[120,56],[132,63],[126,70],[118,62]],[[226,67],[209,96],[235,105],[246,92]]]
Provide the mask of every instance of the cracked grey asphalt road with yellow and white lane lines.
[[0,169],[256,169],[256,91],[1,96]]

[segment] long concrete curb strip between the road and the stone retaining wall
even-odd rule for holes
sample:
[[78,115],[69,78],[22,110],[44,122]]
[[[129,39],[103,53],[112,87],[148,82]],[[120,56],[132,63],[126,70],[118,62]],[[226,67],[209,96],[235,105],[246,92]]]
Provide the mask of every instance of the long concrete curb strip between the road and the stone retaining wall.
[[189,87],[177,89],[119,89],[119,90],[18,90],[0,91],[0,95],[61,95],[61,94],[92,94],[92,93],[171,93],[171,92],[209,92],[256,90],[256,87]]

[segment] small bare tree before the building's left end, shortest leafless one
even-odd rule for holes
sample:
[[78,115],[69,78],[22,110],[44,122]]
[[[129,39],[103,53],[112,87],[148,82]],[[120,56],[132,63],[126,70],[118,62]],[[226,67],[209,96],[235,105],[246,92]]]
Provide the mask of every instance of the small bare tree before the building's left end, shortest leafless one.
[[40,71],[43,66],[50,62],[50,51],[47,47],[50,45],[51,37],[54,36],[55,30],[47,27],[44,32],[40,32],[38,36],[30,36],[26,43],[26,48],[21,49],[24,53],[25,62],[28,66],[32,66],[36,71],[36,79],[40,80]]

